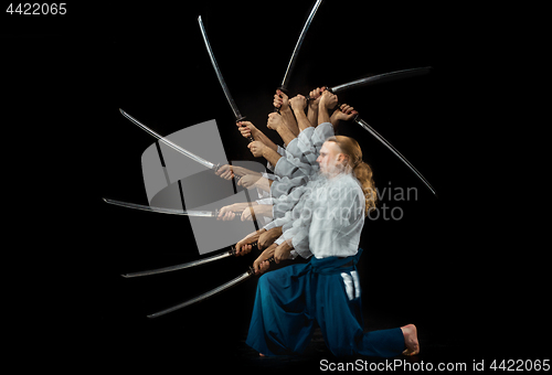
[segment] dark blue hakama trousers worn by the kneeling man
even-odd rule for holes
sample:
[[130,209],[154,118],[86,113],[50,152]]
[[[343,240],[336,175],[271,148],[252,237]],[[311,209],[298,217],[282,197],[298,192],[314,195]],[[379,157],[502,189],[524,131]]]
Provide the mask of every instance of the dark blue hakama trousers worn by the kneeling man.
[[263,275],[258,279],[247,345],[265,355],[302,353],[316,321],[336,356],[401,354],[405,350],[401,329],[364,333],[360,290],[352,294],[346,290],[344,276],[355,272],[361,253],[359,249],[355,256],[346,258],[311,257],[307,264]]

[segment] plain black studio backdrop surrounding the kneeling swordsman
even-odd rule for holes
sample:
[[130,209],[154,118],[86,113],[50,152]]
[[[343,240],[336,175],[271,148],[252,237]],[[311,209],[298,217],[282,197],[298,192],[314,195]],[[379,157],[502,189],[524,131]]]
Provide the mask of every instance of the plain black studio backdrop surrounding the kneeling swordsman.
[[[12,309],[4,310],[20,328],[18,352],[44,354],[54,366],[78,357],[99,368],[270,369],[243,342],[255,281],[146,318],[242,274],[254,256],[124,279],[199,255],[185,218],[102,197],[147,202],[140,157],[152,139],[119,108],[161,135],[215,119],[229,159],[253,160],[210,64],[200,14],[242,114],[279,143],[266,116],[311,3],[96,3],[67,4],[66,15],[2,14],[4,196],[15,208],[17,244],[6,272]],[[543,358],[550,349],[543,249],[531,246],[529,215],[518,205],[523,164],[512,158],[505,167],[502,153],[519,156],[523,143],[502,138],[509,125],[497,124],[487,95],[500,36],[484,32],[491,14],[476,14],[460,6],[326,0],[289,86],[305,95],[368,74],[433,67],[339,98],[438,192],[368,132],[341,127],[361,144],[380,189],[417,189],[416,200],[383,202],[402,210],[401,221],[365,223],[359,270],[367,328],[415,323],[427,347],[421,357],[435,363]]]

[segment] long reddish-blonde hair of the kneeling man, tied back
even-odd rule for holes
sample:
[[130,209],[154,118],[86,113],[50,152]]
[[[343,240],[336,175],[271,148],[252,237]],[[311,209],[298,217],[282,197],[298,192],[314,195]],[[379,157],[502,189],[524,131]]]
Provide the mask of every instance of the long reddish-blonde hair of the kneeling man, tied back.
[[372,168],[362,160],[362,150],[359,142],[346,136],[330,137],[326,141],[336,142],[341,149],[341,153],[348,157],[348,165],[352,169],[352,173],[359,180],[364,192],[367,203],[364,214],[368,215],[371,210],[375,210],[378,194],[375,192]]

